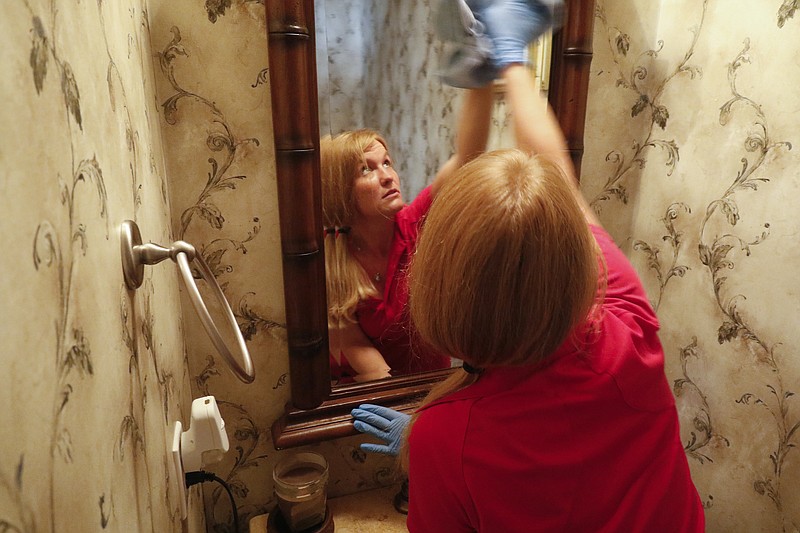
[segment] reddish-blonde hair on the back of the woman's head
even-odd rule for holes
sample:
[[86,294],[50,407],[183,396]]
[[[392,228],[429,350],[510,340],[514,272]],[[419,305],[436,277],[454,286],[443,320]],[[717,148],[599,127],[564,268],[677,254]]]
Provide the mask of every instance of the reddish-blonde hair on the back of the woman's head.
[[[540,364],[589,319],[599,252],[567,179],[545,157],[503,150],[442,184],[409,273],[423,341],[476,368]],[[423,405],[476,379],[457,371]]]

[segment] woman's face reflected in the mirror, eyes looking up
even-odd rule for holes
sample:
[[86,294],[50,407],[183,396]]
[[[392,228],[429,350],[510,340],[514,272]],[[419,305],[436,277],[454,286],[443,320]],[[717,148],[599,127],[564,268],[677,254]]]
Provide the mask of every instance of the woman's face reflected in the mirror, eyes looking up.
[[364,151],[364,161],[353,183],[356,209],[365,217],[393,218],[404,204],[400,178],[392,166],[389,152],[381,143],[373,141]]

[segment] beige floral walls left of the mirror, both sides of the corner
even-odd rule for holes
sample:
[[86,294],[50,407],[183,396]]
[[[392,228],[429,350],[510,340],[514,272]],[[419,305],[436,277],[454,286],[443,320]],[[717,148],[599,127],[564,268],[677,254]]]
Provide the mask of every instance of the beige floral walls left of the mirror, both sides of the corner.
[[[12,531],[230,530],[222,489],[182,526],[166,442],[216,396],[231,451],[213,470],[240,521],[273,505],[289,399],[264,6],[26,0],[2,22],[0,524]],[[128,291],[119,224],[203,253],[247,338],[244,385],[210,346],[176,267]],[[185,338],[185,345],[184,345]],[[331,494],[388,483],[391,460],[324,443]],[[76,529],[77,528],[77,529]]]

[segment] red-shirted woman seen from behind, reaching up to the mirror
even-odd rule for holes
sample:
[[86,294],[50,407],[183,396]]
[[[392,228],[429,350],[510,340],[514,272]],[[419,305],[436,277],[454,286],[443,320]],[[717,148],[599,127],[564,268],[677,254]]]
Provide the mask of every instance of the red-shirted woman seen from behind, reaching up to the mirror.
[[502,76],[521,150],[442,186],[409,273],[420,337],[463,370],[410,421],[354,410],[387,443],[362,447],[401,446],[412,533],[702,532],[658,319],[529,73]]

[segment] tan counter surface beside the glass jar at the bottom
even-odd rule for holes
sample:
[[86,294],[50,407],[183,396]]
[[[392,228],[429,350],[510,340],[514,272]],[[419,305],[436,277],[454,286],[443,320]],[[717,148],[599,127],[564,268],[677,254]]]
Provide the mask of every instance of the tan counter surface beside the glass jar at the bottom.
[[[328,500],[336,533],[405,533],[406,515],[394,509],[399,485],[357,492]],[[267,530],[267,516],[250,519],[250,533]]]

